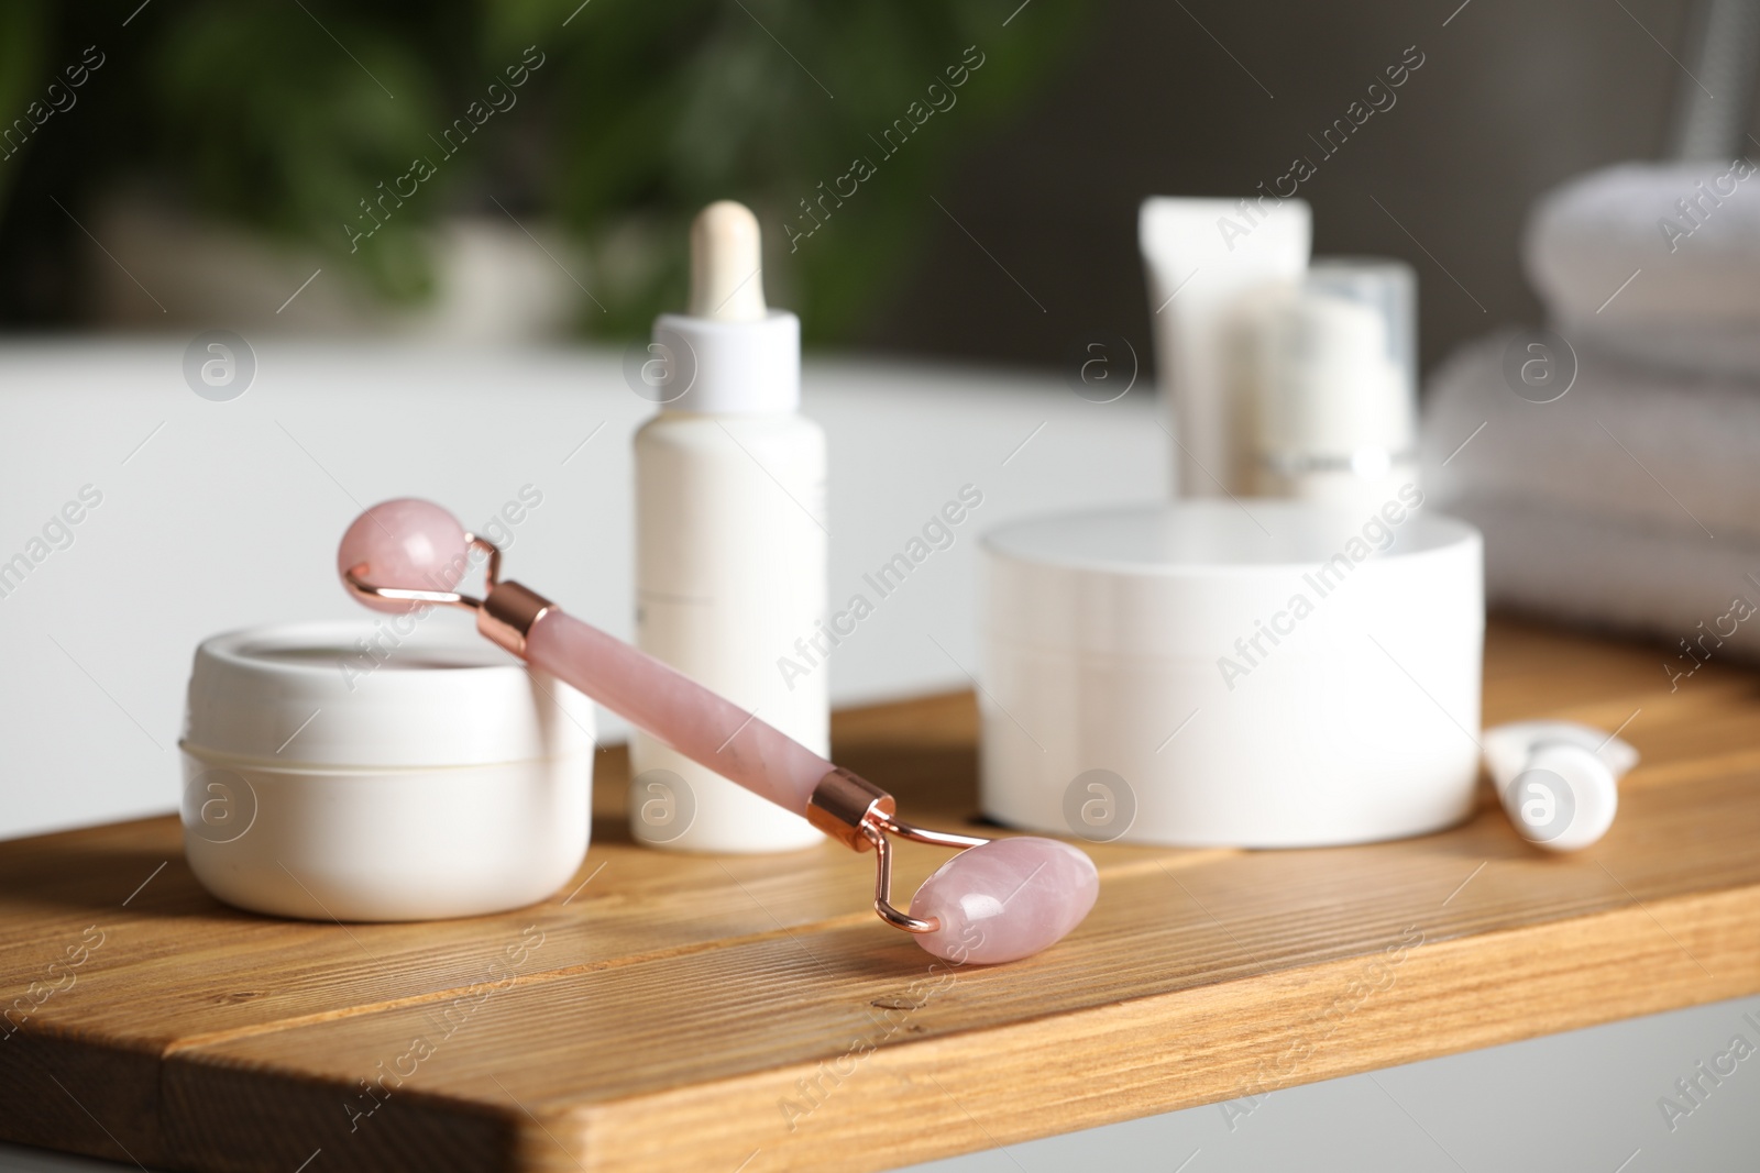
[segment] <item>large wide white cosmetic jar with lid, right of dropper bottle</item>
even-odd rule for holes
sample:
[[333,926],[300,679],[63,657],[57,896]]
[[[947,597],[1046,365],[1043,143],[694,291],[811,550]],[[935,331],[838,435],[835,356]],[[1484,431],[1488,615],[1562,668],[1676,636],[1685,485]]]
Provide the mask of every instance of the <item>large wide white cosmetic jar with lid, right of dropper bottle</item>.
[[1464,820],[1484,547],[1420,503],[1192,499],[989,533],[984,812],[1193,848]]

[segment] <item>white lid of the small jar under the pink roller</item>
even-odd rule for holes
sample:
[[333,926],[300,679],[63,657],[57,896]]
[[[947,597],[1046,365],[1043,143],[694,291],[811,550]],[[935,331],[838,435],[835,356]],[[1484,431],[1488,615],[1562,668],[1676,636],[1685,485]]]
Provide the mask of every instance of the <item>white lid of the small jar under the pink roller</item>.
[[528,761],[593,747],[591,702],[429,614],[229,631],[195,649],[183,746],[299,767]]

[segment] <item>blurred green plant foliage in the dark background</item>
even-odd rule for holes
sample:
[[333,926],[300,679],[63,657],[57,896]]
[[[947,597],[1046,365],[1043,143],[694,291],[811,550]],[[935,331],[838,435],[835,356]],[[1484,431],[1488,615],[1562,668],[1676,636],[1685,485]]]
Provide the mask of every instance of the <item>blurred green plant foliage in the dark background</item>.
[[[656,311],[681,306],[690,216],[713,199],[741,199],[766,230],[773,301],[796,308],[810,338],[832,339],[901,276],[926,218],[940,215],[929,188],[957,151],[1068,55],[1082,11],[1016,2],[153,5],[127,42],[104,46],[127,62],[106,81],[128,86],[128,102],[84,111],[144,128],[144,142],[113,153],[109,172],[81,160],[74,174],[92,186],[118,169],[157,176],[194,209],[315,246],[391,299],[431,292],[429,229],[444,216],[554,222],[590,260],[579,276],[598,304],[583,329],[598,336],[642,334]],[[28,102],[74,39],[44,25],[72,19],[33,0],[0,4],[0,111]],[[528,46],[544,65],[517,106],[445,157],[444,128],[484,102]],[[933,83],[945,90],[943,70],[968,46],[984,65],[957,102],[885,155],[884,130],[912,102],[928,106]],[[347,225],[368,223],[363,200],[417,157],[436,164],[433,179],[352,243]],[[801,200],[855,157],[876,174],[827,204],[831,218],[790,251],[785,225],[810,223]],[[14,179],[0,172],[0,199]]]

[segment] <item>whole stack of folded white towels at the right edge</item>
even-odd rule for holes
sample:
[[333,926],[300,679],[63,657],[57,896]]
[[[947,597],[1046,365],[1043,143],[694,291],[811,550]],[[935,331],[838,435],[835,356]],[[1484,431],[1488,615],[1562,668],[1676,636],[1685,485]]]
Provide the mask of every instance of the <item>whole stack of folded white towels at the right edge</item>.
[[1528,339],[1501,334],[1433,375],[1424,419],[1429,496],[1484,529],[1489,598],[1660,637],[1676,688],[1760,659],[1760,171],[1572,181],[1536,204],[1526,264],[1570,390],[1533,403],[1512,385]]

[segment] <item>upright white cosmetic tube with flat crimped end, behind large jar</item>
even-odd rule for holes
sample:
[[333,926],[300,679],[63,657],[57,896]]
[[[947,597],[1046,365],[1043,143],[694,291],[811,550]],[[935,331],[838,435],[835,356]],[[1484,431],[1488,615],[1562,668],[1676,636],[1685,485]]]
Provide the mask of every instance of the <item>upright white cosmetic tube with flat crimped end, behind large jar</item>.
[[1174,496],[1251,492],[1251,324],[1306,273],[1313,211],[1269,195],[1151,197],[1137,239],[1174,433]]

